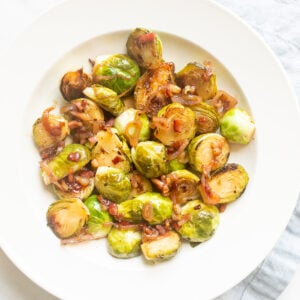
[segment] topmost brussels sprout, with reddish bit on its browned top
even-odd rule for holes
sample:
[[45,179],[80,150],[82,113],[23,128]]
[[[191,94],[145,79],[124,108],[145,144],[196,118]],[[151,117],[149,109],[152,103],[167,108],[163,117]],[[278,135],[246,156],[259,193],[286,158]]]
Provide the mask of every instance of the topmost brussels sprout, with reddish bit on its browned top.
[[138,65],[153,69],[162,62],[162,42],[157,34],[145,29],[133,30],[126,43],[127,53]]

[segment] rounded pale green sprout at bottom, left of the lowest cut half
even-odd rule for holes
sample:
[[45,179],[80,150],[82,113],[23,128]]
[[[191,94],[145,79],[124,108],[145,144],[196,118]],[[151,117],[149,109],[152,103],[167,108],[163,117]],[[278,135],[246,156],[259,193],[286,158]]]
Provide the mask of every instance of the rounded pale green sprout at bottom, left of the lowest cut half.
[[142,234],[137,229],[112,228],[107,236],[108,251],[117,258],[131,258],[140,254]]

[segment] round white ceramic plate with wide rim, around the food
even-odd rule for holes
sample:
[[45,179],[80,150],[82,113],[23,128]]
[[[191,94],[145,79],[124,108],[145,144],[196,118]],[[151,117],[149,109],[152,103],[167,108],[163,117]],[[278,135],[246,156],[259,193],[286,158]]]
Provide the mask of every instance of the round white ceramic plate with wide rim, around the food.
[[[243,22],[209,1],[65,2],[37,20],[1,60],[1,246],[38,285],[63,299],[209,299],[248,275],[284,230],[300,174],[299,113],[286,76],[268,47]],[[219,88],[254,116],[257,133],[232,147],[230,161],[250,175],[243,196],[222,214],[215,236],[183,247],[172,260],[147,265],[117,260],[105,241],[62,247],[46,226],[53,200],[44,188],[31,126],[60,99],[68,70],[88,58],[124,52],[130,29],[160,33],[164,58],[177,70],[189,61],[213,62]]]

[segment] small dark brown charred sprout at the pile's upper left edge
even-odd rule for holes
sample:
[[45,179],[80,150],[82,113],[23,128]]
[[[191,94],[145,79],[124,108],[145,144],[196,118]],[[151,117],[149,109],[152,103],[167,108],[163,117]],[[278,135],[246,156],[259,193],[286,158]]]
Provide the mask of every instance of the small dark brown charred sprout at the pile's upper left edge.
[[82,91],[91,84],[91,78],[79,69],[74,72],[66,73],[61,79],[60,91],[67,100],[83,97]]

